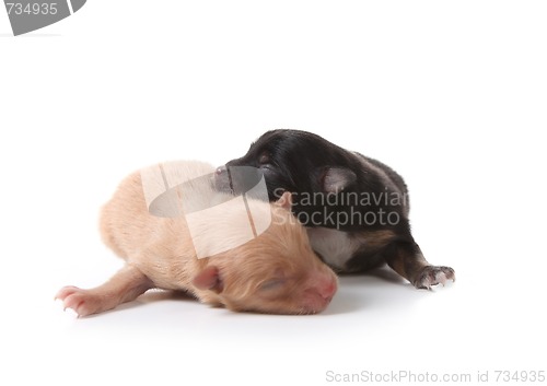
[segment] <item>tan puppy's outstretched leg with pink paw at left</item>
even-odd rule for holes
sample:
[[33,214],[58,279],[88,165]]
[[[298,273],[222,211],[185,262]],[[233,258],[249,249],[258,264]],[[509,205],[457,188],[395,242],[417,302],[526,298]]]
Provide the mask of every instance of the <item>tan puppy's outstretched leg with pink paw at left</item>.
[[100,286],[91,290],[65,286],[56,299],[63,301],[65,308],[72,308],[79,316],[86,316],[130,302],[153,286],[152,281],[137,268],[125,266]]

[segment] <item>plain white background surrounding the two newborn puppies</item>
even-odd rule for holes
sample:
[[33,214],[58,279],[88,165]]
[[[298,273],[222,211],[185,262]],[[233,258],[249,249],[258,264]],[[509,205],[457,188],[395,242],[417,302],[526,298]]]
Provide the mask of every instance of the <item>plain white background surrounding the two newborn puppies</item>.
[[[0,10],[0,383],[547,371],[546,20],[543,1],[90,0],[13,37]],[[342,278],[303,317],[147,294],[77,319],[54,302],[121,266],[96,224],[126,174],[222,164],[276,128],[397,169],[416,239],[457,282]]]

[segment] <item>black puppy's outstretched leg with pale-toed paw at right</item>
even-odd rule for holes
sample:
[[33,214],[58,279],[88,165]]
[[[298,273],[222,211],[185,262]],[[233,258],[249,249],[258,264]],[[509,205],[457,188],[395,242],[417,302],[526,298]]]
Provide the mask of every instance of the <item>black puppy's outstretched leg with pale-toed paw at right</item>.
[[452,268],[430,265],[414,242],[392,243],[387,246],[384,258],[389,267],[417,289],[430,289],[437,284],[444,285],[447,280],[456,280]]

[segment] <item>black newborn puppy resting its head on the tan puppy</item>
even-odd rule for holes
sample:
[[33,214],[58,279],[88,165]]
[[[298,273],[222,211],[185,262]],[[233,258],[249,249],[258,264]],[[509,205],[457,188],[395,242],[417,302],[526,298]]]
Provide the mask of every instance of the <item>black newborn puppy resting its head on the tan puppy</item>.
[[455,280],[452,268],[431,266],[421,254],[410,234],[407,187],[383,163],[311,132],[272,130],[218,169],[220,186],[226,186],[232,166],[259,168],[270,201],[292,192],[292,210],[313,248],[335,270],[387,262],[416,288]]

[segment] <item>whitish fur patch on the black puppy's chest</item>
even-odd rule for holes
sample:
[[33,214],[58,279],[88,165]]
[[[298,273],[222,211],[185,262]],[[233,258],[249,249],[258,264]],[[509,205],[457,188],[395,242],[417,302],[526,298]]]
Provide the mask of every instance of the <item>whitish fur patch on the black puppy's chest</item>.
[[349,237],[342,231],[328,227],[306,227],[306,231],[312,248],[336,270],[344,270],[346,262],[362,245],[357,237]]

